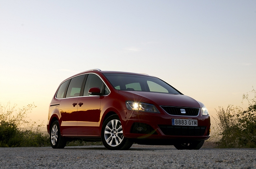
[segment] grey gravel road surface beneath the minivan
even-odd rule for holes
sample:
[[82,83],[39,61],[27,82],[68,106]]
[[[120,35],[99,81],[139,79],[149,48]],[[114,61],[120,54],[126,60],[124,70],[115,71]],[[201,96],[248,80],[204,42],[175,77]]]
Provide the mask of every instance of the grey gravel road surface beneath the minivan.
[[128,151],[104,146],[0,148],[0,168],[202,168],[256,169],[256,149],[177,150],[137,145]]

